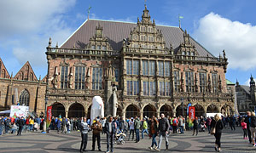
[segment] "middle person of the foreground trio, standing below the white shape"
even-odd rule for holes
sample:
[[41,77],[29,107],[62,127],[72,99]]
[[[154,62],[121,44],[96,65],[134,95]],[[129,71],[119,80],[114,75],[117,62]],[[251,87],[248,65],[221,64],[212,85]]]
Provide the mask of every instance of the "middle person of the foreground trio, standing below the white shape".
[[101,131],[102,131],[102,123],[99,122],[100,118],[96,118],[96,122],[92,123],[91,129],[92,129],[92,150],[95,150],[95,143],[97,139],[98,149],[101,150]]

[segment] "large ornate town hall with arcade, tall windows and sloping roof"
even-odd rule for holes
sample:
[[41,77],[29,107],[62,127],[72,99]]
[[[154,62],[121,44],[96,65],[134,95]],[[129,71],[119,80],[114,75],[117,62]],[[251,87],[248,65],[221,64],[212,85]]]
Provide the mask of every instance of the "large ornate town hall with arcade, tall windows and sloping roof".
[[137,23],[86,20],[46,54],[54,116],[90,116],[95,95],[113,114],[114,94],[119,116],[178,116],[189,103],[196,116],[234,113],[224,51],[214,57],[183,29],[155,25],[147,6]]

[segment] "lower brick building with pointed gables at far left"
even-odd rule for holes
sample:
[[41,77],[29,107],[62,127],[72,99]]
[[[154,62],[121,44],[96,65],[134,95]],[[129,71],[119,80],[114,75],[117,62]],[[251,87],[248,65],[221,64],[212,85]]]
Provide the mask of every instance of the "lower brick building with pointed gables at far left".
[[0,111],[9,110],[11,105],[26,105],[37,115],[44,113],[46,77],[38,80],[29,62],[13,77],[0,59],[0,87]]

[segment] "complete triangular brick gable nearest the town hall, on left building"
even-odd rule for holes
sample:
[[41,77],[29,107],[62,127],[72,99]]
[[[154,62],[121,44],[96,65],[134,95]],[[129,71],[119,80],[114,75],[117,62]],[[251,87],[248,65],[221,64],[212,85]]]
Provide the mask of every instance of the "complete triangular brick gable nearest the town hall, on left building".
[[32,66],[27,61],[25,65],[23,65],[15,75],[16,80],[24,80],[24,81],[32,81],[38,82],[38,78],[36,77],[34,71],[32,70]]

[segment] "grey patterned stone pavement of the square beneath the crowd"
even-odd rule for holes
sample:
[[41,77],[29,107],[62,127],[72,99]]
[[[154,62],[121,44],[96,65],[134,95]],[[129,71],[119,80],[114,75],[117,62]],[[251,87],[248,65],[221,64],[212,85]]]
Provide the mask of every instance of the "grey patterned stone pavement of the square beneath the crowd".
[[[145,134],[146,135],[146,134]],[[91,150],[91,133],[87,144],[88,151]],[[0,136],[0,152],[32,152],[32,153],[67,153],[79,152],[80,133],[72,132],[67,134],[57,134],[56,131],[50,131],[47,134],[39,132],[21,133],[21,136],[15,134],[4,134]],[[158,137],[157,137],[158,141]],[[169,150],[161,150],[160,152],[215,152],[214,150],[214,136],[205,133],[199,133],[197,136],[192,136],[191,131],[186,131],[184,134],[171,134],[169,136]],[[236,131],[224,129],[222,135],[222,152],[256,152],[256,147],[248,144],[248,140],[242,139],[241,127],[236,127]],[[102,151],[106,151],[106,135],[102,135]],[[125,144],[115,144],[114,152],[156,152],[155,150],[148,150],[151,144],[151,139],[145,136],[139,143],[134,141],[126,141]],[[162,149],[165,149],[165,141],[161,144]],[[96,145],[97,150],[97,145]],[[92,152],[92,151],[90,151]],[[98,153],[94,151],[92,153]]]

